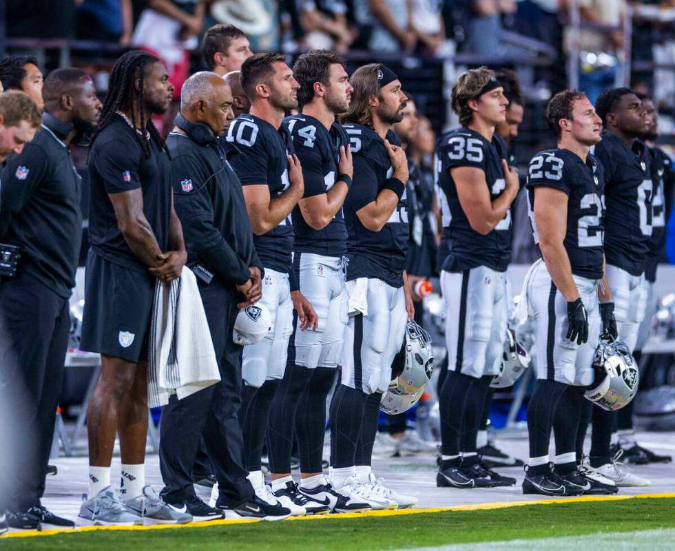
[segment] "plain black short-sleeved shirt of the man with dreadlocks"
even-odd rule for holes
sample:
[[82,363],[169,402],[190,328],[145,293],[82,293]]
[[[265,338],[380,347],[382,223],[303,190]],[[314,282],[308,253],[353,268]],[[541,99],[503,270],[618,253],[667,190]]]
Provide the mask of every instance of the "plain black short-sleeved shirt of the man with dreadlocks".
[[[98,134],[89,155],[89,242],[92,250],[110,262],[147,273],[117,226],[117,217],[108,194],[140,188],[143,214],[152,228],[161,251],[167,251],[171,219],[169,156],[150,138],[150,158],[121,116]],[[145,138],[142,138],[145,139]]]

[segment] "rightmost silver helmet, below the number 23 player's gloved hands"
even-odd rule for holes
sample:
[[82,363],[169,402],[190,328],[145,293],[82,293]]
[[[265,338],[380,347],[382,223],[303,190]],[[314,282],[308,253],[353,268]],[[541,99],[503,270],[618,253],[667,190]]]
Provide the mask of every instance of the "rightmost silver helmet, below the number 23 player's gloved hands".
[[636,395],[640,372],[628,347],[606,333],[593,359],[595,380],[584,396],[607,411],[623,408]]

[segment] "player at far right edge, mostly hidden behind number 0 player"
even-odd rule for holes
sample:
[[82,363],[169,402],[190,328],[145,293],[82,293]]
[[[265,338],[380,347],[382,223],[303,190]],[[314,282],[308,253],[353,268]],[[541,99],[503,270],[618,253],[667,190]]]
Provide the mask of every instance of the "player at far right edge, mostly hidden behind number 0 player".
[[[654,197],[652,200],[652,239],[650,240],[649,252],[645,262],[645,319],[640,324],[638,338],[633,351],[633,357],[639,364],[642,349],[647,342],[647,337],[652,330],[652,320],[656,314],[658,299],[656,297],[656,267],[663,258],[665,245],[665,225],[672,210],[673,189],[675,187],[675,171],[672,160],[663,149],[657,147],[654,141],[658,137],[658,114],[654,108],[654,102],[644,94],[636,94],[647,112],[649,128],[642,136],[652,157],[652,185]],[[617,415],[618,438],[616,448],[623,450],[621,460],[627,463],[645,464],[671,461],[669,455],[658,455],[651,450],[639,446],[635,440],[633,430],[633,404],[629,402],[619,410]],[[612,450],[613,451],[613,450]]]

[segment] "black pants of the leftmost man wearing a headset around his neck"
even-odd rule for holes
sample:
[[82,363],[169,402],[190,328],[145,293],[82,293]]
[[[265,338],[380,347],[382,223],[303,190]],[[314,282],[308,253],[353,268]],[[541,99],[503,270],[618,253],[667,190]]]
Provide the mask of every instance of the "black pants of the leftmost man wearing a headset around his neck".
[[0,284],[0,313],[0,510],[25,511],[45,492],[70,309],[24,274]]

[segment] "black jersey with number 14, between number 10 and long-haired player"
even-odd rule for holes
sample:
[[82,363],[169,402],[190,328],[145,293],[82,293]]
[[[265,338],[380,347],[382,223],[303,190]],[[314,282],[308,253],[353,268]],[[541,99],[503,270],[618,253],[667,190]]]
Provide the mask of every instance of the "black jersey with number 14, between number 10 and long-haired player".
[[[313,116],[300,114],[284,120],[284,127],[293,138],[295,154],[302,165],[304,196],[325,194],[337,180],[340,163],[340,147],[349,143],[349,138],[334,123],[330,132]],[[342,209],[337,211],[326,227],[313,229],[302,217],[300,206],[293,209],[295,242],[293,251],[324,256],[342,256],[347,247],[347,230]]]

